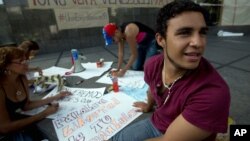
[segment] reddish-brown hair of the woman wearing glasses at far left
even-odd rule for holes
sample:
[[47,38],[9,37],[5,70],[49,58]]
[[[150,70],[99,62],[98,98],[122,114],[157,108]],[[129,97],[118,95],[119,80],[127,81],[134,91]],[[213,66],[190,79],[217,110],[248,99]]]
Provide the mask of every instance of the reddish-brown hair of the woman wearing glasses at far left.
[[0,48],[0,75],[4,73],[6,67],[11,64],[12,60],[24,57],[24,51],[14,47],[6,46]]

